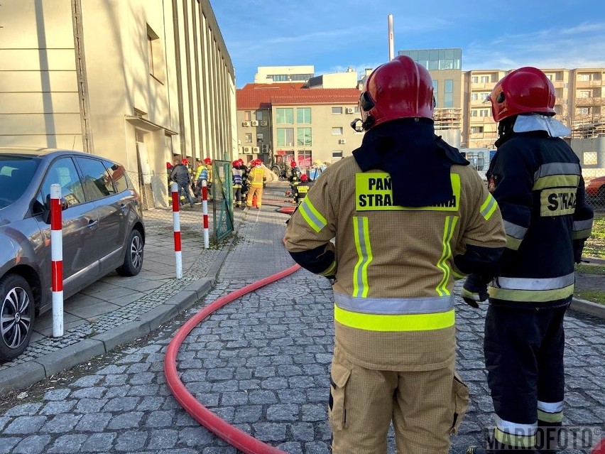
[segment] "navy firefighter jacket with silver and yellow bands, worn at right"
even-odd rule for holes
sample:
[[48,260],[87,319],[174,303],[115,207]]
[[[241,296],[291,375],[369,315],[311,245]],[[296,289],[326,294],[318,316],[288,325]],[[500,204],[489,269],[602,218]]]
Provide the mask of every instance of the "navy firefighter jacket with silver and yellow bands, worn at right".
[[579,159],[545,131],[511,131],[496,146],[486,176],[502,213],[506,249],[490,302],[565,306],[574,291],[574,262],[592,229]]

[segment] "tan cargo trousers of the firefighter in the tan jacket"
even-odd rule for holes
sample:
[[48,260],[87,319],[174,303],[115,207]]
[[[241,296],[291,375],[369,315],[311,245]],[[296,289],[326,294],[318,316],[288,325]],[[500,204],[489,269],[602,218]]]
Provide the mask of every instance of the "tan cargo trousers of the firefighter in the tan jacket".
[[386,454],[393,421],[398,454],[447,454],[467,411],[469,390],[454,364],[420,372],[372,370],[334,347],[328,416],[333,454]]

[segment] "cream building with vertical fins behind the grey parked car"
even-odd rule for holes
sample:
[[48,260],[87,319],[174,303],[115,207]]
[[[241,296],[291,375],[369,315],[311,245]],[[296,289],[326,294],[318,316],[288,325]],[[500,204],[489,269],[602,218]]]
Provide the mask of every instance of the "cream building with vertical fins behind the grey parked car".
[[236,154],[235,77],[208,0],[5,0],[0,146],[119,161],[146,207],[173,156]]

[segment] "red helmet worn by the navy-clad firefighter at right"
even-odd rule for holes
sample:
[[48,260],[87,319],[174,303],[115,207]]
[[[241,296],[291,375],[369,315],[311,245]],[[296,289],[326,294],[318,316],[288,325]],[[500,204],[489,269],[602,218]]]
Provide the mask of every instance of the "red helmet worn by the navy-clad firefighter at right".
[[537,67],[509,72],[488,99],[496,122],[517,114],[555,114],[555,86]]

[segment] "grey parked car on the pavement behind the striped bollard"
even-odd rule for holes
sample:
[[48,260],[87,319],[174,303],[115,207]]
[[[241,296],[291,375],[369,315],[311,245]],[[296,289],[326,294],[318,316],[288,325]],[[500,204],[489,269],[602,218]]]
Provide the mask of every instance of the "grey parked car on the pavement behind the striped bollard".
[[143,266],[141,200],[119,163],[77,151],[0,148],[0,363],[52,307],[50,185],[62,194],[63,295]]

